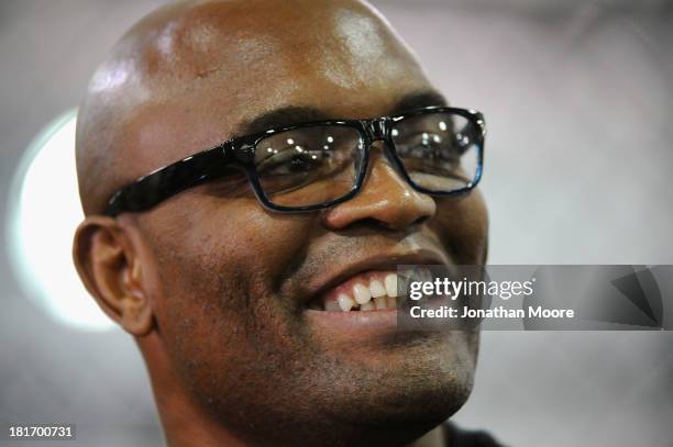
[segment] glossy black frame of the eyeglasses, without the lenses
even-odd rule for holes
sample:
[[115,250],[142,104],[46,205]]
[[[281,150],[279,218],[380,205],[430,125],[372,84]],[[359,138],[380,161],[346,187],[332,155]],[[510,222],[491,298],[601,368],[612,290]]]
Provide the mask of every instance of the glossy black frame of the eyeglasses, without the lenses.
[[[477,171],[475,174],[474,181],[472,181],[465,188],[452,191],[431,191],[419,187],[411,180],[409,174],[402,165],[402,161],[394,149],[395,143],[393,142],[391,136],[393,124],[408,118],[430,113],[449,113],[463,116],[474,125],[474,128],[478,130],[478,132],[476,132],[474,135],[470,135],[471,138],[474,138],[478,150]],[[297,128],[317,125],[345,126],[358,132],[360,145],[357,149],[362,150],[363,154],[353,188],[351,188],[347,193],[340,198],[315,205],[283,206],[273,203],[262,188],[256,166],[254,164],[255,148],[257,143],[260,143],[263,138],[279,132],[294,131]],[[385,150],[388,158],[395,165],[396,170],[401,174],[405,180],[416,191],[438,197],[456,195],[474,189],[482,179],[485,136],[486,123],[481,112],[472,109],[450,107],[427,107],[406,113],[396,114],[394,116],[382,116],[371,120],[323,120],[272,127],[267,131],[229,139],[210,149],[194,154],[187,158],[158,168],[146,176],[139,178],[136,181],[118,190],[110,198],[106,206],[104,214],[108,216],[117,216],[123,212],[146,211],[186,189],[220,178],[224,171],[224,168],[232,165],[239,166],[245,172],[257,200],[268,210],[296,213],[317,211],[334,206],[352,199],[362,189],[362,185],[364,183],[368,168],[369,150],[372,144],[377,141],[383,141],[386,143]]]

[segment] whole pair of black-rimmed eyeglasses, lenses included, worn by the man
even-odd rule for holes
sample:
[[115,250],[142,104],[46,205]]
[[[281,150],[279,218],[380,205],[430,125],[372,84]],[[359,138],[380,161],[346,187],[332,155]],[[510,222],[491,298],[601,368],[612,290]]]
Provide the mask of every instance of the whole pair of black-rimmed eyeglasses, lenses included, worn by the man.
[[372,120],[316,121],[230,139],[159,168],[117,191],[106,214],[148,210],[241,168],[262,204],[306,212],[355,197],[372,144],[385,143],[391,165],[416,191],[454,195],[482,178],[486,126],[474,110],[430,107]]

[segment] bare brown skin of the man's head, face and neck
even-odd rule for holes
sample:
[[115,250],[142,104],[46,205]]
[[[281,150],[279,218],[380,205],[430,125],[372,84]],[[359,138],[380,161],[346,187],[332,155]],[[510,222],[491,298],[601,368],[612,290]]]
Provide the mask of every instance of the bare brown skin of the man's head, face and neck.
[[432,91],[409,48],[357,1],[179,2],[112,49],[78,116],[87,217],[74,255],[88,290],[135,337],[169,445],[405,445],[466,401],[478,334],[357,339],[317,324],[304,301],[329,272],[372,256],[484,264],[478,190],[420,194],[378,147],[363,191],[322,212],[273,213],[244,182],[223,180],[101,216],[120,187],[269,111],[379,116]]

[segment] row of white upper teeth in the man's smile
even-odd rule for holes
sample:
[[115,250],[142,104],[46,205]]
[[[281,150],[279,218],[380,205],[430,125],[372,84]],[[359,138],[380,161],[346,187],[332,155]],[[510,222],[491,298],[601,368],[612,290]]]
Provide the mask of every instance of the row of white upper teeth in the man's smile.
[[397,273],[389,272],[385,277],[358,280],[350,290],[342,290],[336,298],[326,298],[323,308],[328,312],[349,312],[353,309],[373,311],[397,308]]

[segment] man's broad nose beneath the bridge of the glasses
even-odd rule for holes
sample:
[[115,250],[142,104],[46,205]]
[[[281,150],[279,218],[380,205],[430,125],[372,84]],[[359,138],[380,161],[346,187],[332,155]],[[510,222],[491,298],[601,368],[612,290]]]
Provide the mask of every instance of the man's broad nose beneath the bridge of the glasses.
[[393,168],[383,150],[372,147],[369,172],[357,195],[331,208],[323,214],[330,230],[344,230],[366,221],[375,221],[390,230],[408,226],[432,217],[437,211],[434,200],[417,192]]

